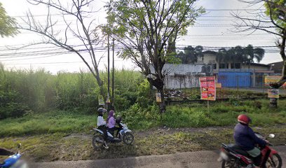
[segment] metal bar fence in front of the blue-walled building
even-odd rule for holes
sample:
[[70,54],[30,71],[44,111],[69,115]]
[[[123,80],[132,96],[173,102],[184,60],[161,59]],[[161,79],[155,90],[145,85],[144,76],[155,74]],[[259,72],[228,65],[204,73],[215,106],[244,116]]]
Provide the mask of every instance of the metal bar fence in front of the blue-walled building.
[[[199,78],[203,74],[175,74],[165,77],[165,97],[172,100],[200,99]],[[251,73],[219,73],[216,75],[217,99],[266,97],[268,87],[264,85],[264,76]],[[282,92],[284,94],[285,92]]]

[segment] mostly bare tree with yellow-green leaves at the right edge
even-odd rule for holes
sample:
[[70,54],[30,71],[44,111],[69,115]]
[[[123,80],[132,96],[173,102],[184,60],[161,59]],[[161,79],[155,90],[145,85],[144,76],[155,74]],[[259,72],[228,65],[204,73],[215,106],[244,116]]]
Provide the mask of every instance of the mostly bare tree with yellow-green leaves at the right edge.
[[[286,42],[286,5],[285,1],[280,0],[250,0],[243,1],[255,6],[258,3],[263,4],[259,10],[252,14],[252,17],[243,17],[239,13],[233,13],[235,18],[240,22],[236,22],[236,31],[266,31],[269,34],[278,36],[275,42],[280,50],[280,56],[283,60],[282,77],[277,83],[271,83],[272,88],[279,88],[286,81],[286,55],[285,55],[285,42]],[[271,99],[271,105],[277,106],[277,99]]]

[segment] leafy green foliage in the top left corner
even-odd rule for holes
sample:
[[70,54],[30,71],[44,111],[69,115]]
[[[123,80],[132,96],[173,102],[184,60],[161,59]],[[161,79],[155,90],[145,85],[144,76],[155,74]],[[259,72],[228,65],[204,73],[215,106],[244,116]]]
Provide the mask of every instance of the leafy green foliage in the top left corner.
[[6,10],[0,2],[0,35],[4,36],[13,36],[18,33],[18,30],[15,27],[16,21],[14,18],[11,18],[6,14]]

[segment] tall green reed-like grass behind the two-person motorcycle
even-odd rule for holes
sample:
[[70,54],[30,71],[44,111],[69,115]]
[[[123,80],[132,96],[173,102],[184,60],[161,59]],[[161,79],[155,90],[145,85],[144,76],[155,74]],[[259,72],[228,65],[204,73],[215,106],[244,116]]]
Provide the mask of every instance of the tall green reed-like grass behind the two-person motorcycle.
[[[143,78],[137,71],[115,70],[116,106],[130,106],[136,98],[132,93]],[[107,72],[101,71],[104,81],[104,97],[107,96]],[[111,80],[110,80],[111,81]],[[20,103],[29,106],[34,112],[51,109],[81,109],[92,113],[97,109],[100,88],[88,71],[79,73],[58,72],[56,75],[44,69],[6,70],[0,65],[0,91],[17,92],[23,97]],[[130,94],[128,94],[130,93]],[[118,100],[118,101],[117,101]]]

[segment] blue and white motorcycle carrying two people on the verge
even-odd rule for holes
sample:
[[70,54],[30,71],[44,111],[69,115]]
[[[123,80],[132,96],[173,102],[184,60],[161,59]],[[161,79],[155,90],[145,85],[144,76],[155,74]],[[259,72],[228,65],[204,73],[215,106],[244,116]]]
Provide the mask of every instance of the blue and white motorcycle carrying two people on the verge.
[[[126,145],[130,145],[133,143],[134,141],[134,136],[131,133],[131,130],[128,130],[127,125],[123,124],[123,123],[118,123],[118,126],[120,128],[119,134],[118,134],[118,138],[114,137],[110,132],[107,131],[107,135],[108,135],[108,140],[107,140],[107,144],[108,143],[119,143],[121,141],[124,142],[124,144]],[[103,132],[102,130],[97,129],[96,127],[93,128],[94,131],[94,136],[93,136],[93,148],[95,149],[99,149],[102,148],[103,143],[104,143],[104,138],[103,138]]]

